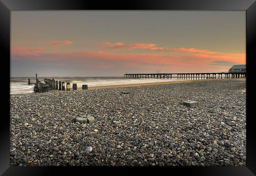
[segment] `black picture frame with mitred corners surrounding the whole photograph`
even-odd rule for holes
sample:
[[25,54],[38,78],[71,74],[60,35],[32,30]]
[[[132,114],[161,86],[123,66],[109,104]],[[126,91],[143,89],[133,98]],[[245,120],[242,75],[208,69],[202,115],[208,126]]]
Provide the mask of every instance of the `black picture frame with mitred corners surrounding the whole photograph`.
[[[253,82],[255,65],[254,45],[256,39],[255,0],[0,0],[0,45],[2,65],[10,68],[10,11],[16,10],[245,10],[246,11],[246,66],[247,66],[247,145],[246,166],[241,167],[10,167],[9,158],[9,91],[10,75],[2,67],[2,97],[0,125],[0,174],[3,176],[50,176],[74,174],[130,175],[130,174],[181,174],[196,176],[253,176],[256,175],[256,135],[254,127],[254,97],[256,85]],[[11,68],[10,68],[11,69]],[[10,73],[10,72],[9,72]],[[4,99],[4,100],[3,100]],[[136,171],[134,171],[134,168]],[[82,172],[80,172],[82,171]],[[80,173],[79,173],[80,172]]]

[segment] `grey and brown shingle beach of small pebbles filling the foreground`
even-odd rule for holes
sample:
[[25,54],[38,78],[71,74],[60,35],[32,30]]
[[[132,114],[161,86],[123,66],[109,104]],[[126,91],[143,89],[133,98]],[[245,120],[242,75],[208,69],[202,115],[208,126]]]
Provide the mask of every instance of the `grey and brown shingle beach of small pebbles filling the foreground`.
[[[245,88],[237,79],[11,94],[10,165],[242,166]],[[86,114],[95,121],[72,122]]]

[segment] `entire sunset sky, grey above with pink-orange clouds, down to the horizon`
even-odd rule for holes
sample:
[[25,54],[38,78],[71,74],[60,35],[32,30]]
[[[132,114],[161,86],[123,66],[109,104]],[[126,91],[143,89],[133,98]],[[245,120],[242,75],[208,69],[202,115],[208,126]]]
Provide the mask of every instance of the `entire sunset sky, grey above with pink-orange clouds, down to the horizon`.
[[11,76],[228,71],[245,11],[11,11]]

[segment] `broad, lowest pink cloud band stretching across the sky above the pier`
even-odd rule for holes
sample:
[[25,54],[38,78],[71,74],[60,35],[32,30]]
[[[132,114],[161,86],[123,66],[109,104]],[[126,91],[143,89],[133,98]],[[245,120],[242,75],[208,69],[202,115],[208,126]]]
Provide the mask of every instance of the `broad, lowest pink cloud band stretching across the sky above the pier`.
[[[232,56],[208,56],[205,54],[190,54],[182,56],[166,56],[158,54],[117,54],[106,52],[67,52],[67,53],[37,53],[37,56],[16,53],[13,60],[37,60],[76,65],[76,67],[95,68],[95,69],[152,69],[161,68],[163,71],[189,72],[189,71],[223,71],[229,66],[216,65],[221,61],[230,63],[245,64],[245,58]],[[215,64],[213,64],[215,63]],[[232,66],[232,65],[231,65]],[[221,69],[221,70],[220,70]]]

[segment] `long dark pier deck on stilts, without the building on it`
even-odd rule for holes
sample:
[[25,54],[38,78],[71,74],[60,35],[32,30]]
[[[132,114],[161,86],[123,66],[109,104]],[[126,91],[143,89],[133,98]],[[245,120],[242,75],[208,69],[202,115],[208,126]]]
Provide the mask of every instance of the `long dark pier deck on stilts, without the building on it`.
[[[219,72],[219,73],[131,73],[124,74],[124,78],[163,78],[172,79],[173,75],[178,79],[199,80],[203,79],[228,79],[246,78],[246,72]],[[217,76],[216,76],[217,75]]]

